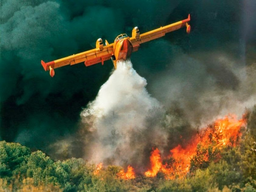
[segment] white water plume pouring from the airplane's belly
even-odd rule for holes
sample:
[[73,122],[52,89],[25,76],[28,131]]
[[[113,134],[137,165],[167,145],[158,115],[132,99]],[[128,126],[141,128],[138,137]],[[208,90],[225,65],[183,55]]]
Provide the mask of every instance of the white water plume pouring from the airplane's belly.
[[158,123],[164,110],[147,92],[146,85],[131,61],[117,63],[96,99],[81,112],[83,128],[91,133],[86,138],[90,146],[86,159],[138,165],[146,149],[166,145],[166,131]]

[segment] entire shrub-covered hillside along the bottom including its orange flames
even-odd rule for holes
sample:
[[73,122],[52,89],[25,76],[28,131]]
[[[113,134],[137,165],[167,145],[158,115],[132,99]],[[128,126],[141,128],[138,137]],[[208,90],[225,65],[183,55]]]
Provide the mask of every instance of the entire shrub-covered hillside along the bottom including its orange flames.
[[[234,115],[201,128],[163,155],[155,147],[150,167],[92,165],[83,159],[54,162],[41,151],[0,142],[4,191],[255,191],[256,107],[242,119]],[[138,170],[137,170],[138,169]],[[18,176],[17,176],[18,175]]]

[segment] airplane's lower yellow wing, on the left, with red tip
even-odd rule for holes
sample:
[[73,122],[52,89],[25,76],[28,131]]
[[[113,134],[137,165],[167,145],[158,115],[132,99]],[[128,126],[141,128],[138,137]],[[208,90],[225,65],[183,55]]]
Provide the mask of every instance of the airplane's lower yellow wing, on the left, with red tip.
[[44,70],[50,70],[50,76],[53,77],[55,72],[53,69],[58,67],[63,67],[65,65],[74,65],[81,62],[84,62],[85,66],[90,66],[97,63],[104,63],[111,59],[113,55],[113,44],[108,44],[103,46],[103,49],[100,50],[99,48],[91,49],[89,51],[81,52],[78,54],[74,54],[65,58],[61,58],[55,61],[50,61],[45,63],[41,60],[41,64],[44,67]]

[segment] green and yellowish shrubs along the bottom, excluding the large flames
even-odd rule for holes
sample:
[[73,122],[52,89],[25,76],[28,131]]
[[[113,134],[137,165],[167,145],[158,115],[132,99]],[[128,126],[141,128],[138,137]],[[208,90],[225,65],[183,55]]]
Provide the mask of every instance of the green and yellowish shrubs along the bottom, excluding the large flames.
[[[189,174],[174,180],[166,180],[161,172],[156,177],[137,175],[124,180],[117,176],[122,169],[119,166],[95,174],[96,166],[83,159],[55,162],[42,151],[31,152],[19,143],[0,141],[0,191],[256,192],[256,107],[246,118],[239,145],[221,151],[212,150],[213,145],[207,150],[198,145]],[[208,161],[200,159],[204,151]]]

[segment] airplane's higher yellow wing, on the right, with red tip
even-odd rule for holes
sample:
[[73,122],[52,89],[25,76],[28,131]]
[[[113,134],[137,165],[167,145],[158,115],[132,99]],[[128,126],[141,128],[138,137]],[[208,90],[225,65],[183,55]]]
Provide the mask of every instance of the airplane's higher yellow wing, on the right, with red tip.
[[[149,31],[149,32],[145,32],[143,34],[138,35],[137,38],[136,37],[130,38],[131,43],[133,45],[133,52],[138,50],[138,48],[140,47],[140,44],[143,44],[147,41],[151,41],[153,39],[163,37],[166,33],[175,31],[175,30],[180,29],[184,26],[186,26],[186,32],[190,33],[191,27],[188,24],[189,21],[190,21],[190,14],[189,14],[187,19],[178,21],[176,23],[172,23],[170,25],[160,27],[158,29],[154,29],[154,30]],[[137,30],[138,30],[138,28],[137,28]]]

